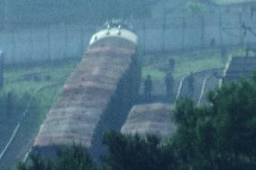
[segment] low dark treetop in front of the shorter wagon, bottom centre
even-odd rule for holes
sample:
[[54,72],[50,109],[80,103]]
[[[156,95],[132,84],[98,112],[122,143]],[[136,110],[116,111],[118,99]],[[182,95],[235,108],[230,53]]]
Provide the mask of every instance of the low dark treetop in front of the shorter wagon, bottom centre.
[[145,138],[137,135],[123,135],[109,132],[104,143],[107,154],[104,157],[105,169],[111,170],[164,170],[173,166],[172,151],[160,144],[154,136]]

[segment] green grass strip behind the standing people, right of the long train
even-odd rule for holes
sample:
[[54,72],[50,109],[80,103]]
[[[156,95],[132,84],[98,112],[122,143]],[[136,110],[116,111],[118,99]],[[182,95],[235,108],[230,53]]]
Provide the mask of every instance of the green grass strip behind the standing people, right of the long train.
[[197,50],[180,52],[177,54],[150,55],[142,59],[142,79],[151,75],[153,80],[162,80],[169,67],[169,58],[174,58],[174,77],[180,78],[189,75],[190,72],[204,69],[224,67],[224,59],[217,50]]

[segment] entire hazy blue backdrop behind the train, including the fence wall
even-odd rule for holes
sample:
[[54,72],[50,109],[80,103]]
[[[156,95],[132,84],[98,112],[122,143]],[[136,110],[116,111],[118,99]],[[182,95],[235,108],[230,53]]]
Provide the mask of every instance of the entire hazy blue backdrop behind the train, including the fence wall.
[[[220,48],[255,42],[251,4],[215,0],[1,0],[5,63],[81,58],[105,21],[133,25],[142,53]],[[212,47],[214,46],[214,47]]]

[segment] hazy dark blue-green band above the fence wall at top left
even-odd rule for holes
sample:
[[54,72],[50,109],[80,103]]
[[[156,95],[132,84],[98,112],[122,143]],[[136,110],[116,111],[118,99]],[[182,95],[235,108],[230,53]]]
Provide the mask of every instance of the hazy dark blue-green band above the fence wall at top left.
[[150,17],[155,0],[0,0],[9,25],[102,23],[112,18]]

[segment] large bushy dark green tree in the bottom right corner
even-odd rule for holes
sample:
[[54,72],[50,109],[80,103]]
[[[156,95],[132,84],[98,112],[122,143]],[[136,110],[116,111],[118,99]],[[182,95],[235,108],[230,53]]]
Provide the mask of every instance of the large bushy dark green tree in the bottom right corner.
[[242,79],[209,94],[210,106],[183,100],[171,140],[179,169],[256,167],[256,79]]

